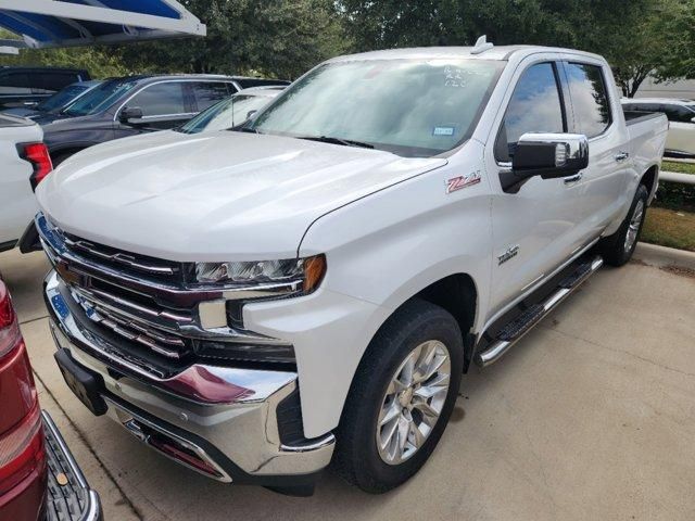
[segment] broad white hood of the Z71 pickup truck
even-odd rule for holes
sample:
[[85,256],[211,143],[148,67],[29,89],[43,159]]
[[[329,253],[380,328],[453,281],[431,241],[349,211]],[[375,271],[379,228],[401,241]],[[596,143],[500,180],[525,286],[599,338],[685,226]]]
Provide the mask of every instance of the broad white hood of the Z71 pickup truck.
[[37,196],[65,231],[135,253],[291,258],[320,216],[445,164],[278,136],[164,131],[74,155]]

